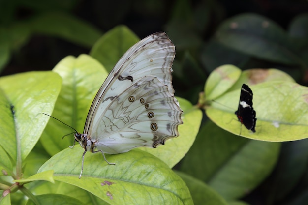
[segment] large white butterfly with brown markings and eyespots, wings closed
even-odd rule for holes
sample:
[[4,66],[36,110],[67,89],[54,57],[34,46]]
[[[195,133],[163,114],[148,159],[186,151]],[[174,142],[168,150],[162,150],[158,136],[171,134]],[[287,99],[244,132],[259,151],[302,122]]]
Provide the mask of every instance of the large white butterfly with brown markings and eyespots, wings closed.
[[155,148],[179,135],[183,111],[172,87],[174,56],[175,47],[163,32],[144,38],[122,56],[92,102],[84,133],[74,134],[74,145],[77,141],[85,150],[79,178],[87,151],[101,152],[109,163],[104,153]]

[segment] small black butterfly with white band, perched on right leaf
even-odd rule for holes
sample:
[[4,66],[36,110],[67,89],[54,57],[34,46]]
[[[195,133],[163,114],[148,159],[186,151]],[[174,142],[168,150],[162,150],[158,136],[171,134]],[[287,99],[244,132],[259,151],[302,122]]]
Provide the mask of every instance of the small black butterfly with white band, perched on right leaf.
[[246,84],[243,84],[241,89],[239,108],[237,111],[235,111],[235,115],[248,130],[255,132],[254,128],[257,118],[255,118],[256,112],[252,107],[252,96],[253,93],[251,89]]

